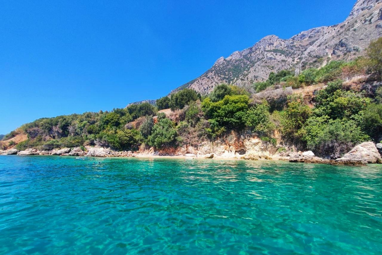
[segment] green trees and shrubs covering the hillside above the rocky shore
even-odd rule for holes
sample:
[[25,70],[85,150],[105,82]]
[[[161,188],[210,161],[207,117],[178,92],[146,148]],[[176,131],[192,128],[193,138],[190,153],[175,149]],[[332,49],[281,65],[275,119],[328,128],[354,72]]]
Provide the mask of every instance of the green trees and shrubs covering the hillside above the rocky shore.
[[[144,103],[111,112],[39,119],[20,128],[28,139],[16,148],[51,150],[80,146],[85,150],[86,145],[98,145],[136,150],[148,145],[171,151],[177,146],[197,147],[207,138],[226,139],[234,132],[256,134],[267,146],[276,146],[276,137],[282,138],[298,150],[310,149],[317,155],[336,158],[356,143],[382,138],[382,87],[368,87],[364,92],[360,86],[344,86],[338,80],[367,70],[374,71],[380,79],[381,45],[381,39],[372,43],[368,58],[347,63],[331,61],[320,69],[307,68],[298,76],[283,70],[254,85],[258,92],[277,84],[298,88],[328,82],[326,89],[309,98],[294,94],[261,101],[251,99],[243,88],[221,84],[201,100],[195,91],[184,89],[157,100],[159,110],[174,111],[167,117]],[[155,115],[157,118],[153,118]],[[4,139],[18,132],[12,131]]]

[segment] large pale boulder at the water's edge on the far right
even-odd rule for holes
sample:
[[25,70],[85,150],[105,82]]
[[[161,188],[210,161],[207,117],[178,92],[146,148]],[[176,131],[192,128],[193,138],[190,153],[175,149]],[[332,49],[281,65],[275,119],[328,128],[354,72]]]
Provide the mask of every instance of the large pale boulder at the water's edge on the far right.
[[363,142],[355,146],[343,157],[336,159],[334,164],[360,165],[369,163],[382,163],[381,154],[374,142]]

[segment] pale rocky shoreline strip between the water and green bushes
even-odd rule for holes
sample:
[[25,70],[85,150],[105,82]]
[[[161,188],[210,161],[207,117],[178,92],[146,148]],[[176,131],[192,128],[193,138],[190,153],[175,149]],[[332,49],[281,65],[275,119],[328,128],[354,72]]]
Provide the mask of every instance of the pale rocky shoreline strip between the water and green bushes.
[[[191,151],[193,151],[191,149]],[[183,152],[183,153],[182,153]],[[214,152],[203,153],[206,151],[193,151],[190,148],[185,150],[180,148],[176,154],[163,154],[155,151],[153,148],[145,151],[115,151],[110,148],[103,147],[74,147],[61,148],[54,150],[38,150],[29,148],[26,150],[17,150],[11,148],[8,150],[0,150],[0,155],[57,155],[57,156],[87,156],[87,157],[182,157],[182,158],[206,158],[206,159],[232,159],[232,160],[284,160],[296,163],[321,163],[333,165],[365,165],[369,163],[382,163],[382,143],[363,142],[355,146],[351,151],[343,157],[333,159],[320,158],[314,155],[312,151],[305,152],[289,152],[271,154],[266,150],[216,150]],[[208,152],[208,151],[207,151]]]

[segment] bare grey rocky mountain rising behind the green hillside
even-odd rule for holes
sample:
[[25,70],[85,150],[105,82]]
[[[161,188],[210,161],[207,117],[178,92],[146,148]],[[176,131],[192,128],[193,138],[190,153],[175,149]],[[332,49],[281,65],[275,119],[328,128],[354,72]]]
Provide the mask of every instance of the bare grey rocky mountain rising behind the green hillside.
[[319,67],[330,60],[351,60],[365,53],[369,43],[382,36],[382,0],[358,0],[342,23],[301,32],[290,39],[270,35],[243,51],[219,58],[200,77],[172,92],[191,88],[206,94],[221,83],[251,86],[271,72],[308,65]]

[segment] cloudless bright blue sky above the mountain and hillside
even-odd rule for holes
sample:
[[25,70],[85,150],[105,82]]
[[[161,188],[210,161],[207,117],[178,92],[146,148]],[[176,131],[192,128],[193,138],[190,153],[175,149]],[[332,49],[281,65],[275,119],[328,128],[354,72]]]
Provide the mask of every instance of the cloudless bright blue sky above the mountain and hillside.
[[0,0],[0,134],[157,99],[221,56],[345,20],[356,0]]

